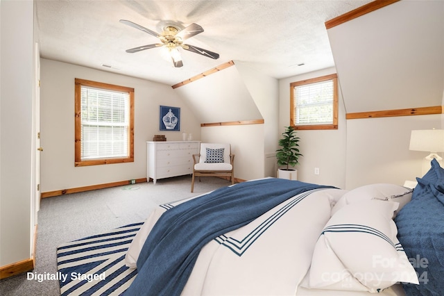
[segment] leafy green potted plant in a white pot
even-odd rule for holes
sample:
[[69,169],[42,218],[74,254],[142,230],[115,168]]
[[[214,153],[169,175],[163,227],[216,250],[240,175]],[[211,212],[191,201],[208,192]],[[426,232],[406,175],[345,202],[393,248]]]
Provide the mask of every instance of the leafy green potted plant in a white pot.
[[298,164],[299,156],[299,140],[293,126],[286,126],[282,138],[278,145],[281,149],[276,150],[276,159],[278,160],[278,178],[297,180],[298,171],[294,168]]

